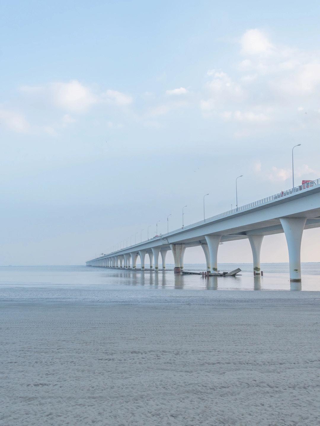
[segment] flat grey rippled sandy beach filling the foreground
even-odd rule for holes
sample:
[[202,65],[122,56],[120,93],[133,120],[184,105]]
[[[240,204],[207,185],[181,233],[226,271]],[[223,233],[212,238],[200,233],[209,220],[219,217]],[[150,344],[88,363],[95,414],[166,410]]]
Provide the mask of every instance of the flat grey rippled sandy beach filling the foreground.
[[319,425],[319,294],[215,294],[2,302],[0,424]]

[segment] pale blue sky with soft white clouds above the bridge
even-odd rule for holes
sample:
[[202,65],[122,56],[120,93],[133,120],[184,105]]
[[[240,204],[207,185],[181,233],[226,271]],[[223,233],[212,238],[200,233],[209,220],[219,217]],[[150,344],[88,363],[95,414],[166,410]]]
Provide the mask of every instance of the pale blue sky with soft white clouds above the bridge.
[[[169,213],[180,227],[185,204],[196,222],[240,174],[239,204],[277,193],[297,143],[296,181],[320,178],[319,2],[0,6],[0,264],[81,264]],[[262,262],[287,259],[265,239]],[[249,243],[218,261],[250,262]]]

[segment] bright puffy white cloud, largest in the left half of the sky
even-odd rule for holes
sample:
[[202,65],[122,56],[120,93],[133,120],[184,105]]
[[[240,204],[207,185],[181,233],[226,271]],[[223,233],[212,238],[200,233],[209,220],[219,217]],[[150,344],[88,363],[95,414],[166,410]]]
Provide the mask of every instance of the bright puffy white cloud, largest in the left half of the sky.
[[55,105],[67,111],[85,112],[97,102],[89,87],[77,80],[69,83],[52,83],[50,89]]

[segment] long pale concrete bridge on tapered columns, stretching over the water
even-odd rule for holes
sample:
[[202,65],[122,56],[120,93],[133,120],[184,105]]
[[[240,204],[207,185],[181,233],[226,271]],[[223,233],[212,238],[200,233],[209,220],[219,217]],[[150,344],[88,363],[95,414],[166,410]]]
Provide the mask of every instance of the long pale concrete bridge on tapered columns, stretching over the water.
[[157,271],[159,254],[162,258],[162,268],[165,269],[167,251],[172,250],[174,272],[180,273],[186,248],[201,245],[207,270],[215,274],[218,269],[219,244],[248,239],[252,249],[254,272],[259,274],[263,237],[284,232],[289,252],[290,280],[301,281],[300,247],[303,230],[315,227],[320,227],[320,179],[104,254],[88,260],[86,265],[135,269],[137,258],[140,256],[141,269],[144,270],[144,260],[148,254],[150,268],[153,269],[154,265]]

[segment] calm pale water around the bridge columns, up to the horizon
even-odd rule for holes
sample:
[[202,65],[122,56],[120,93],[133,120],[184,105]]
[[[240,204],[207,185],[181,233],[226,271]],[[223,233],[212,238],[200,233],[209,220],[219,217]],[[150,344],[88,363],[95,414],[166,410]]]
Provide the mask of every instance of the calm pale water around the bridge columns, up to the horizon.
[[[263,264],[264,276],[253,276],[252,265],[219,265],[220,271],[241,268],[236,277],[176,276],[165,272],[125,271],[86,266],[0,267],[0,301],[175,301],[210,298],[214,290],[320,291],[320,263],[303,263],[301,285],[290,284],[288,264]],[[185,265],[186,271],[204,271],[205,265]]]

